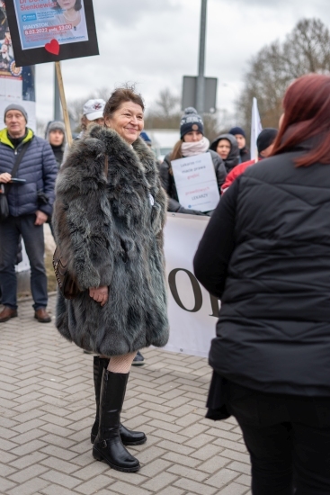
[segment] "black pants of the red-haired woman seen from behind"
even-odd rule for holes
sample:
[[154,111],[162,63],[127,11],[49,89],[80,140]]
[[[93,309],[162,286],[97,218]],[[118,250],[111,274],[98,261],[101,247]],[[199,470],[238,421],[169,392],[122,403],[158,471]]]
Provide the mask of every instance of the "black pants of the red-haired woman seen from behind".
[[227,383],[226,402],[250,453],[253,495],[330,494],[330,397]]

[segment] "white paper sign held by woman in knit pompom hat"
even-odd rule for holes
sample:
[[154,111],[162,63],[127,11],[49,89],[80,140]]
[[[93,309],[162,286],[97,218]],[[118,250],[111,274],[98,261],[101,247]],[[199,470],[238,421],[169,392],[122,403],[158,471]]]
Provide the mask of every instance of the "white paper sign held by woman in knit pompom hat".
[[189,210],[210,211],[219,203],[217,177],[210,153],[171,162],[179,202]]

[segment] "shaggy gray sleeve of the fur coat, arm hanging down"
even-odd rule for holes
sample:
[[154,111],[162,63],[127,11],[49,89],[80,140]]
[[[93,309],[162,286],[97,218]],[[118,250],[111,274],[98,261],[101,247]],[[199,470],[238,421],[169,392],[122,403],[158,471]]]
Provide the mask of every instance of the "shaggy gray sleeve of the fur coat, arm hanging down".
[[74,143],[58,173],[53,214],[56,242],[81,290],[111,282],[111,211],[104,165],[103,142],[87,139]]

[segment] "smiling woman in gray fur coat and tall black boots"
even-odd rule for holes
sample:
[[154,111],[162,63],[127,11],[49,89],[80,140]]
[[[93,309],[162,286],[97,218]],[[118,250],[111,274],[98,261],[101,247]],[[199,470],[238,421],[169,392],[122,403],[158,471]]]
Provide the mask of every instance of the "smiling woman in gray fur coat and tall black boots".
[[58,330],[100,355],[94,357],[93,455],[127,473],[139,463],[125,446],[147,440],[120,424],[130,365],[138,349],[168,340],[166,197],[155,156],[138,137],[143,112],[132,89],[111,94],[104,127],[77,140],[59,171],[53,216],[59,251],[82,290],[72,301],[58,294]]

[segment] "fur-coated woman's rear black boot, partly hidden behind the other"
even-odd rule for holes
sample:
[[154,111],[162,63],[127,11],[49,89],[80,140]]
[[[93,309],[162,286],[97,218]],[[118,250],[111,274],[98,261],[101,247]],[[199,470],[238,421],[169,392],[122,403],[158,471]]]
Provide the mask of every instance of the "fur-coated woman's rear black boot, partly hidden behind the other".
[[[94,440],[99,431],[99,418],[100,418],[100,391],[102,383],[103,369],[109,365],[108,357],[94,356],[93,374],[94,374],[94,389],[95,389],[95,402],[96,402],[96,416],[94,425],[91,431],[91,442],[94,444]],[[147,437],[142,431],[132,431],[125,428],[120,424],[120,437],[124,446],[140,446],[147,442]]]

